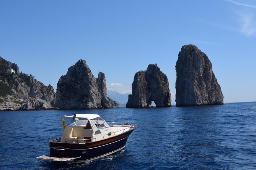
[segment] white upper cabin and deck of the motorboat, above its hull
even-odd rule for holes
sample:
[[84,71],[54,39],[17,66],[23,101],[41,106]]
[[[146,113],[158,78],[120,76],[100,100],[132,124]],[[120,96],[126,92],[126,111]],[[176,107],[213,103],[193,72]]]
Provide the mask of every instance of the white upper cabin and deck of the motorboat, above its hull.
[[[61,143],[89,143],[111,138],[130,130],[131,125],[109,125],[98,114],[76,114],[61,118]],[[114,122],[111,122],[114,123]]]

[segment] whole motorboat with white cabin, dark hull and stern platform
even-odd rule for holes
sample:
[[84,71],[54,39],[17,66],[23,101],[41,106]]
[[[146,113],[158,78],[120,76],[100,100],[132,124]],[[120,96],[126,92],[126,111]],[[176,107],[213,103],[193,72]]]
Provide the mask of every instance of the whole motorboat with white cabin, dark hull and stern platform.
[[126,147],[137,125],[106,122],[98,114],[75,114],[61,118],[63,133],[50,138],[50,154],[36,157],[40,162],[84,163],[114,154]]

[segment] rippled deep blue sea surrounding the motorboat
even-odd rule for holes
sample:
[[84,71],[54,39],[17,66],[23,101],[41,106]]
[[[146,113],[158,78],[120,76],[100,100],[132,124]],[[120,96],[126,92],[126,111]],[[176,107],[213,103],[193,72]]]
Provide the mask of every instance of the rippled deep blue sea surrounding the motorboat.
[[0,169],[248,170],[256,169],[256,102],[217,106],[87,109],[107,122],[138,128],[126,148],[82,165],[43,164],[49,137],[61,136],[60,118],[73,110],[0,112]]

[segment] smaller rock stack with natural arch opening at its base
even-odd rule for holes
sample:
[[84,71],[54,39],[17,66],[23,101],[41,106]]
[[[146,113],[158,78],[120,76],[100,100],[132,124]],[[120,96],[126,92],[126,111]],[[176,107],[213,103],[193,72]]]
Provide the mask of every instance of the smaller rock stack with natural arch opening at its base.
[[126,108],[151,107],[152,101],[157,107],[171,106],[168,78],[157,64],[150,64],[147,71],[134,75],[132,95],[128,96]]

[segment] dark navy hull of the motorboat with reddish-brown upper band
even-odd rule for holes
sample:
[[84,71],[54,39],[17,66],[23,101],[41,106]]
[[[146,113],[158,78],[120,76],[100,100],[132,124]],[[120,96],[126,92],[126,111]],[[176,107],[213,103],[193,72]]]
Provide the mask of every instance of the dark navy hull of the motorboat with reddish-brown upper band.
[[74,159],[73,163],[83,163],[98,159],[99,157],[108,156],[120,151],[126,146],[126,141],[134,129],[105,140],[84,144],[60,143],[52,140],[50,141],[50,156],[79,157]]

